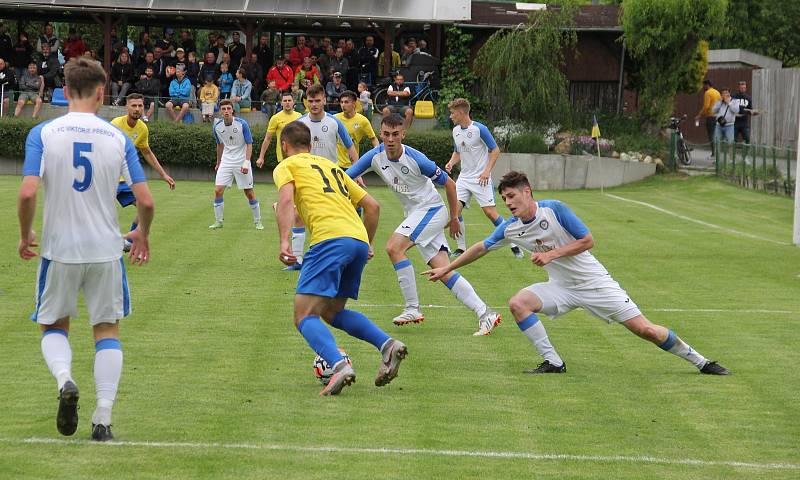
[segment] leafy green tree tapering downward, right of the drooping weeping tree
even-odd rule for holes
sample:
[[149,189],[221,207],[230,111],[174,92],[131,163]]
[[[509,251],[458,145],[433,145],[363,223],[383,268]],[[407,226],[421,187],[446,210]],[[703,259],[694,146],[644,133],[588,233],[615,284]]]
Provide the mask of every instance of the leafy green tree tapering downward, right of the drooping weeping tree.
[[[725,24],[727,0],[625,0],[625,43],[637,62],[632,86],[644,127],[657,133],[672,113],[675,95],[690,86],[689,65],[701,40]],[[697,72],[693,72],[697,75]]]

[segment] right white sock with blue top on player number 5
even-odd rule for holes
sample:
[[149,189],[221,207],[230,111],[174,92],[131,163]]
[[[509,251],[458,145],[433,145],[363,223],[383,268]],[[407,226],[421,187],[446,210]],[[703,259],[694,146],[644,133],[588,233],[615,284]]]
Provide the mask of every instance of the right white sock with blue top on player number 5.
[[122,375],[122,345],[119,339],[103,338],[95,342],[94,382],[97,409],[92,416],[95,425],[111,425],[111,407],[117,397]]

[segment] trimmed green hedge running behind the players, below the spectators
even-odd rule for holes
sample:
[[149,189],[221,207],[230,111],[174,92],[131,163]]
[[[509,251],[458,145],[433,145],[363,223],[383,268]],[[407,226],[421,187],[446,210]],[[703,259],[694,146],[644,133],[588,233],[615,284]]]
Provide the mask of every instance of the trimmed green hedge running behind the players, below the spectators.
[[[23,158],[25,138],[35,122],[27,119],[0,119],[0,157]],[[169,122],[151,122],[150,148],[164,165],[189,165],[213,167],[216,162],[216,144],[211,134],[210,124],[181,124]],[[261,142],[264,140],[266,125],[254,125],[253,159],[258,157]],[[453,139],[450,131],[429,130],[410,131],[406,134],[405,144],[425,153],[428,158],[443,167],[453,153]],[[361,153],[370,148],[368,143],[361,145]],[[273,168],[277,164],[275,157],[275,140],[267,149],[266,165]]]

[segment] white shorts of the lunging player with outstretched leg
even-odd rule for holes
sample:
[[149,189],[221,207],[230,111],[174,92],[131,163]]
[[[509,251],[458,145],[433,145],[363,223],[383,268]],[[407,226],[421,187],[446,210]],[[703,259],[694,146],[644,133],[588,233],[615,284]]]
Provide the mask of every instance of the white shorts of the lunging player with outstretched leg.
[[553,282],[535,283],[525,290],[542,301],[541,313],[556,318],[578,307],[608,323],[622,323],[641,315],[639,307],[613,278],[567,287]]

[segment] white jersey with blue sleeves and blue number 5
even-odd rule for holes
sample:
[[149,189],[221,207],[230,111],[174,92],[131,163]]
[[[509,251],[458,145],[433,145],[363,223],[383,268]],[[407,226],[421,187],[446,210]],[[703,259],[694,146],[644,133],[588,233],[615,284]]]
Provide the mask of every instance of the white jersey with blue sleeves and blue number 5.
[[122,255],[117,221],[120,176],[144,182],[130,138],[91,113],[68,113],[34,127],[25,142],[23,176],[41,177],[41,256],[61,263],[100,263]]

